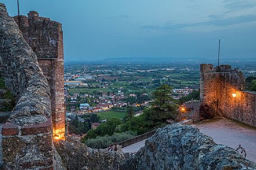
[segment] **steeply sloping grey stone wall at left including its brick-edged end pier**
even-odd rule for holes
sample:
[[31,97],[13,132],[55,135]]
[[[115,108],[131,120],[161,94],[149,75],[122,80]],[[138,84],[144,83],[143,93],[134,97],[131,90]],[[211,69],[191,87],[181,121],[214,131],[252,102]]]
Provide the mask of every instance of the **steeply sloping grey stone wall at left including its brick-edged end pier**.
[[49,85],[36,54],[2,3],[0,44],[0,74],[17,99],[2,127],[3,169],[53,169]]

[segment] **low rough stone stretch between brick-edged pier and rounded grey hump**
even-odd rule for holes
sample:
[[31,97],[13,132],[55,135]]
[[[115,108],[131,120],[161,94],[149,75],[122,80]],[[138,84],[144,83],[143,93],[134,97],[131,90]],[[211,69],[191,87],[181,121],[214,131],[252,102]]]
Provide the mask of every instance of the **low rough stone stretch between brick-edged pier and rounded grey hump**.
[[85,144],[74,144],[59,140],[54,143],[64,166],[68,170],[77,169],[120,169],[131,154],[112,152],[104,149],[92,149]]

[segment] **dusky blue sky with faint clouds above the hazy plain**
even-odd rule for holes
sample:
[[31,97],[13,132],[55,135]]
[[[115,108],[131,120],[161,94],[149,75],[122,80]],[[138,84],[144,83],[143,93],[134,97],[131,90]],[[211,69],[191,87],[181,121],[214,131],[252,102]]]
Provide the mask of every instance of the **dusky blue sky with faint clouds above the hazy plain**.
[[[11,16],[16,0],[0,0]],[[256,1],[20,0],[62,23],[66,61],[115,57],[256,57]]]

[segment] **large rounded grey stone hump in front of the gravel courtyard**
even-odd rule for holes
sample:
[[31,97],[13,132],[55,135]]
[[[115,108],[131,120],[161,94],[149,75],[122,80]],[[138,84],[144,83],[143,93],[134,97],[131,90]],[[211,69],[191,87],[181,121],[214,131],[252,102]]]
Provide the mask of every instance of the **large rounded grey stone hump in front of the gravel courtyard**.
[[145,147],[122,169],[256,169],[234,149],[213,142],[189,125],[168,125],[146,140]]

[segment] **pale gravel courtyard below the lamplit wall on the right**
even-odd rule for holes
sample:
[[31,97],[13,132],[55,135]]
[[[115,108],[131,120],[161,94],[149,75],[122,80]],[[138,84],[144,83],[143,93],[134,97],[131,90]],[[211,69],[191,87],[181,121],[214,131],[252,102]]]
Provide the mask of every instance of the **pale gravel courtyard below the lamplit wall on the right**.
[[226,118],[194,124],[193,127],[212,137],[218,144],[225,144],[233,149],[241,144],[246,151],[246,158],[256,163],[256,128]]

